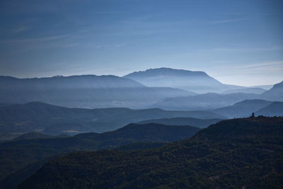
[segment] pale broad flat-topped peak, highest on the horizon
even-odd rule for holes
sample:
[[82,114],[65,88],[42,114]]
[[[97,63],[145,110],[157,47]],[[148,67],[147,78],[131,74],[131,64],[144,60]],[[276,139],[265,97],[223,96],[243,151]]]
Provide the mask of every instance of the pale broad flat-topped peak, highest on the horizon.
[[221,92],[232,88],[243,88],[222,84],[204,71],[157,68],[135,71],[124,78],[138,81],[145,86],[180,88],[196,93]]

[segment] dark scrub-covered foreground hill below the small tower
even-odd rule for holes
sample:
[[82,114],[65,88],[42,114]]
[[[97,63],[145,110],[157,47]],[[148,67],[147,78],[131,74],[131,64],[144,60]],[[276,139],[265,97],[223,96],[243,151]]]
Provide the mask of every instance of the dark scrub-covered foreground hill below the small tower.
[[158,149],[80,151],[18,188],[282,188],[283,118],[223,120]]

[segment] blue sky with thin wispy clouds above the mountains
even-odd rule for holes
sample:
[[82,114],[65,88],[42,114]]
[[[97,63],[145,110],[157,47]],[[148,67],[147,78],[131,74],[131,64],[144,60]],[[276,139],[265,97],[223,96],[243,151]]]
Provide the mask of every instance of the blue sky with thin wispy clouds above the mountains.
[[276,84],[282,9],[282,0],[1,0],[0,75],[171,67],[224,84]]

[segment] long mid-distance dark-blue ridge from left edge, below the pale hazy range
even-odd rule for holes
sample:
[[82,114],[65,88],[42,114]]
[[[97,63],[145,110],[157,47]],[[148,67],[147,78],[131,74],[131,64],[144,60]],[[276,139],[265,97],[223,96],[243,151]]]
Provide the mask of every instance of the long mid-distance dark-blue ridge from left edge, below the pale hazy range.
[[[169,111],[158,108],[132,110],[129,108],[64,108],[46,103],[27,103],[0,108],[0,137],[8,139],[26,132],[43,134],[79,134],[116,130],[130,122],[160,118],[225,117],[209,111]],[[196,125],[192,125],[196,126]]]

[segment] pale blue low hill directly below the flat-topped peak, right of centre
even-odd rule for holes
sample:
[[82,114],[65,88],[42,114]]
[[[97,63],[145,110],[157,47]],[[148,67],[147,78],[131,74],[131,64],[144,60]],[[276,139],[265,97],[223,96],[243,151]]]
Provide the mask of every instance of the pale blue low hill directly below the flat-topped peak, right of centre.
[[204,93],[196,96],[165,98],[163,101],[152,105],[152,107],[166,110],[206,110],[222,108],[246,99],[256,98],[259,98],[259,95],[250,93]]

